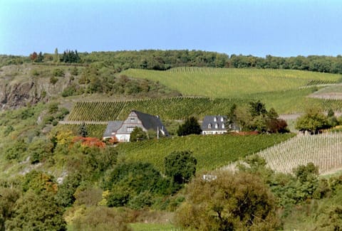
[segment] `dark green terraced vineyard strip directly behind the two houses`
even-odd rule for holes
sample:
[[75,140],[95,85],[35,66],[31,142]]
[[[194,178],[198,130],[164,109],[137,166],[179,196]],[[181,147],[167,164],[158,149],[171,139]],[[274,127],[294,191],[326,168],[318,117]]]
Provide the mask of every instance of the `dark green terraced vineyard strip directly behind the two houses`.
[[[252,99],[251,99],[252,100]],[[107,122],[125,119],[131,110],[159,115],[162,119],[185,119],[191,115],[227,114],[239,99],[215,99],[207,97],[172,97],[154,100],[115,102],[77,102],[68,116],[69,121]],[[247,102],[247,101],[246,101]]]

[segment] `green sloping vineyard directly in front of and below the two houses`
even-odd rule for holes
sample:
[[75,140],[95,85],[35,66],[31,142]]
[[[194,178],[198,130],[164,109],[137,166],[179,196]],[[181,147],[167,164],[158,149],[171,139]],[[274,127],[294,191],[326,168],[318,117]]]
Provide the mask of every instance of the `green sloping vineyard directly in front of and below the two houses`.
[[189,150],[197,159],[197,171],[209,171],[279,144],[292,136],[294,134],[190,135],[119,144],[118,151],[126,161],[148,161],[163,171],[165,156],[172,151]]

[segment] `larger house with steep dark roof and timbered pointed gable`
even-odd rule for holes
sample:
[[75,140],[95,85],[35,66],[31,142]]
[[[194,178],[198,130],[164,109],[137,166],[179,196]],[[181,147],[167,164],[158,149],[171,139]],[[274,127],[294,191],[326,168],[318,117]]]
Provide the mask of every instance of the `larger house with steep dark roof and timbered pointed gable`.
[[141,127],[142,131],[155,131],[157,136],[169,136],[159,117],[133,110],[125,121],[108,122],[103,139],[116,137],[118,141],[130,141],[130,133],[135,127]]

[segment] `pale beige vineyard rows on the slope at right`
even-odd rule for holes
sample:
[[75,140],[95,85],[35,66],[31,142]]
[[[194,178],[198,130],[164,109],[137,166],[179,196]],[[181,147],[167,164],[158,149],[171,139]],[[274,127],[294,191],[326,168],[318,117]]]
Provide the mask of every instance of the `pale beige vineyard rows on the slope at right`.
[[320,173],[342,168],[342,132],[296,136],[259,153],[270,168],[291,173],[299,165],[313,162]]

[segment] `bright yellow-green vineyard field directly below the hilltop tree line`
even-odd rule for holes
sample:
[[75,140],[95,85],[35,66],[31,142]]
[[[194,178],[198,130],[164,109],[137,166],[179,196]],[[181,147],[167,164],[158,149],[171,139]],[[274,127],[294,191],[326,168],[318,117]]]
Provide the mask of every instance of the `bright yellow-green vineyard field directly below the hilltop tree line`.
[[240,97],[257,92],[299,89],[312,82],[336,82],[341,75],[301,70],[173,68],[167,71],[130,69],[124,75],[159,81],[183,95]]

